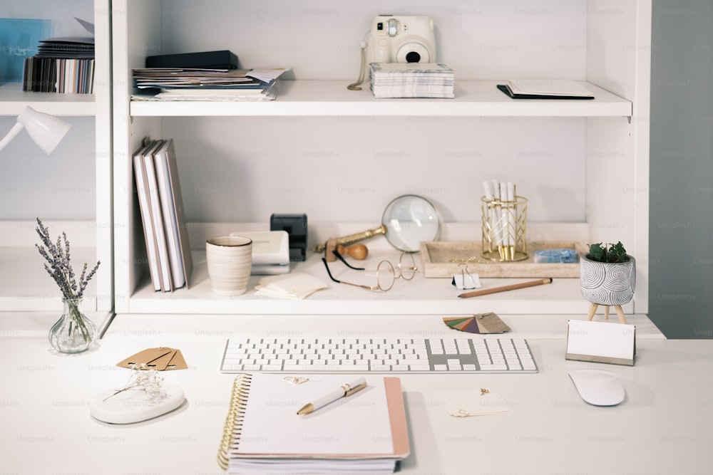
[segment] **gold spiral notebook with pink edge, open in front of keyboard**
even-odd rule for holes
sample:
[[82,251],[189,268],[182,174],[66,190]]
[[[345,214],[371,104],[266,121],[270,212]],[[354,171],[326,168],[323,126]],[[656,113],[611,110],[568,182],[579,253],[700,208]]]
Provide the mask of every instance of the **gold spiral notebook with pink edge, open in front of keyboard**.
[[366,388],[297,415],[353,375],[242,373],[235,377],[218,462],[230,474],[386,474],[409,455],[398,377],[368,376]]

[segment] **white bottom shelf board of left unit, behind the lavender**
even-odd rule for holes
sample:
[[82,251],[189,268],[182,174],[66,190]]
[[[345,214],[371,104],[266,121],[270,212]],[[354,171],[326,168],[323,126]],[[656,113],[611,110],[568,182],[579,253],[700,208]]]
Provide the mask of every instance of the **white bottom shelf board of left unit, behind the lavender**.
[[[96,263],[96,249],[73,246],[71,259],[77,278],[84,262]],[[45,271],[42,256],[34,246],[1,246],[0,311],[53,311],[61,314],[62,294]],[[84,294],[83,308],[96,308],[92,280]]]

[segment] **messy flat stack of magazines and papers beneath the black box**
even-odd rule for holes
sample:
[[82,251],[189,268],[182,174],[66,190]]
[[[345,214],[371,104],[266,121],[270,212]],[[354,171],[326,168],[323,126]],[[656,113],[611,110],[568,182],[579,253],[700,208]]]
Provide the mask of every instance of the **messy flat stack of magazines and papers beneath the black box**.
[[134,100],[273,100],[284,68],[207,69],[140,68],[133,70]]

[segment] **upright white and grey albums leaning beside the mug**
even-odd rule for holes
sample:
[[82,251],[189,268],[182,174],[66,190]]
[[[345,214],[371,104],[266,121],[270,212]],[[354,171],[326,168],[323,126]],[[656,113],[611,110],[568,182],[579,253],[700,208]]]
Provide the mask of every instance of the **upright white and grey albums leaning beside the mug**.
[[193,259],[173,139],[145,140],[133,165],[153,289],[188,288]]

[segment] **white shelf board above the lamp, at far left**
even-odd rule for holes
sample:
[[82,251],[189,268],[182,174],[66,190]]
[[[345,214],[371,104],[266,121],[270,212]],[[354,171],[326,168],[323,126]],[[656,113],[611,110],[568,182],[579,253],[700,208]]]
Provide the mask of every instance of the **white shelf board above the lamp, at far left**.
[[0,85],[0,115],[20,115],[29,105],[39,112],[63,117],[93,117],[93,94],[26,93],[22,83]]

